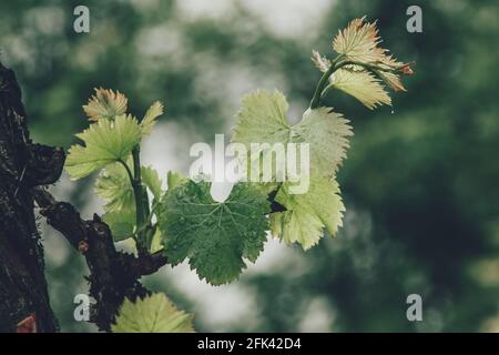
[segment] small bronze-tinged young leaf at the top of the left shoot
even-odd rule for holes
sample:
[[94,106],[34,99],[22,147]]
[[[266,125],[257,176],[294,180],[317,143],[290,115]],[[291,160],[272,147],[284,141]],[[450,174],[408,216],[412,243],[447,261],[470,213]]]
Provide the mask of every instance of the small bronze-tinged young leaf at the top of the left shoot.
[[95,94],[83,106],[90,121],[113,120],[126,112],[128,100],[120,91],[95,89]]

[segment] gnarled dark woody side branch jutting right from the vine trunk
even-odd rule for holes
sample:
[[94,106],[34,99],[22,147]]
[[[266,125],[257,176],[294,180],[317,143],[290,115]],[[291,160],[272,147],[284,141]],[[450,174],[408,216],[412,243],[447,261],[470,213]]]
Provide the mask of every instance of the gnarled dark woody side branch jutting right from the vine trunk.
[[110,331],[124,297],[134,301],[149,293],[139,278],[157,271],[166,260],[161,253],[135,257],[118,252],[108,225],[96,214],[93,220],[84,221],[71,204],[55,201],[40,187],[34,190],[34,199],[47,223],[85,257],[90,296],[95,301],[90,321],[101,331]]

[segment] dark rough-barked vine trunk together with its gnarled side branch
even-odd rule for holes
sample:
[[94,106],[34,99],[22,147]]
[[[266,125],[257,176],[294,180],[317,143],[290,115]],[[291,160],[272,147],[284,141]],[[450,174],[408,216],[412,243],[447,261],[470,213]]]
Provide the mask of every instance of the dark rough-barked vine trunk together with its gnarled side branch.
[[124,297],[149,293],[140,277],[157,271],[166,260],[161,254],[135,257],[118,252],[98,215],[84,221],[71,204],[55,201],[42,187],[59,179],[64,153],[30,141],[20,89],[13,72],[1,63],[0,88],[0,332],[58,329],[33,200],[48,224],[85,257],[90,296],[95,301],[90,321],[110,331]]

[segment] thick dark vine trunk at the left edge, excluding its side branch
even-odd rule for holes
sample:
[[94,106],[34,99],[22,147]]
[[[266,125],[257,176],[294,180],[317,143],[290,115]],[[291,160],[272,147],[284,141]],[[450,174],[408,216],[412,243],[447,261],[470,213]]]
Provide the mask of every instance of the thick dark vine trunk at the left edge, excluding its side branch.
[[0,332],[55,332],[32,187],[55,182],[62,150],[29,138],[21,92],[0,63]]

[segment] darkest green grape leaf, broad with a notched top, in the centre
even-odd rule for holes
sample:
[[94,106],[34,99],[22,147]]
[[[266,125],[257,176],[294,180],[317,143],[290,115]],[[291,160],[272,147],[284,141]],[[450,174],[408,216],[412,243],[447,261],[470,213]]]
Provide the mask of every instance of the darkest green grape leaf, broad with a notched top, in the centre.
[[189,257],[191,268],[213,285],[228,283],[255,262],[266,241],[266,196],[237,183],[224,202],[210,194],[211,184],[187,181],[163,196],[159,225],[172,265]]

